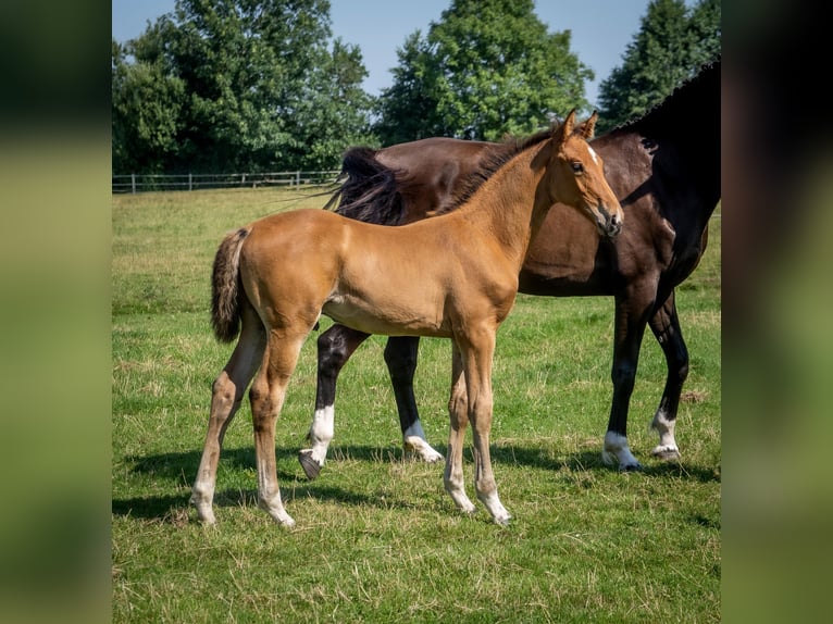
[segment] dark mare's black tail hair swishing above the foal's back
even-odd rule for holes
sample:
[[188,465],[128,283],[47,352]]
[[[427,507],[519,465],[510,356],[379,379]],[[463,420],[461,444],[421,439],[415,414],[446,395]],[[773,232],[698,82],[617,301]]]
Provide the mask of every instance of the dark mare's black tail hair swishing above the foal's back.
[[358,147],[345,152],[341,176],[347,180],[333,194],[324,208],[348,219],[399,225],[402,216],[402,198],[397,176],[401,172],[385,166],[376,160],[376,150]]

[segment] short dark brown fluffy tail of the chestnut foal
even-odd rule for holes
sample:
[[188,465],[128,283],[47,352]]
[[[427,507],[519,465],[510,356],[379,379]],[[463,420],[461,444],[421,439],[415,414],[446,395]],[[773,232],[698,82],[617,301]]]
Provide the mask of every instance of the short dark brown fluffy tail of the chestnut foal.
[[240,248],[250,228],[241,227],[223,239],[211,273],[211,324],[221,342],[231,342],[240,330]]

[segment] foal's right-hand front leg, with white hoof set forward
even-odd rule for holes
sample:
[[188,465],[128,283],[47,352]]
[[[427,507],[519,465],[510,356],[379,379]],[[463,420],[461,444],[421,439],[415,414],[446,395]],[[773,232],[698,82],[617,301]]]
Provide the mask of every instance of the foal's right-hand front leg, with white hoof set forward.
[[509,524],[509,512],[497,494],[492,470],[489,435],[492,432],[493,394],[492,358],[495,354],[495,327],[470,328],[460,339],[469,408],[474,438],[474,489],[497,524]]

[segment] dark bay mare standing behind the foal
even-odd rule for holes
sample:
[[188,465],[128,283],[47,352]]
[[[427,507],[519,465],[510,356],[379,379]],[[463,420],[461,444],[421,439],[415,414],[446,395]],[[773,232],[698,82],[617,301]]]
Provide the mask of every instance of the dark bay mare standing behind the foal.
[[[549,297],[613,296],[613,397],[602,446],[607,464],[638,470],[627,445],[627,410],[646,324],[666,357],[668,376],[651,426],[652,454],[679,458],[674,426],[688,352],[674,288],[706,250],[709,219],[720,200],[720,61],[701,67],[641,118],[592,141],[605,159],[627,225],[616,240],[600,238],[574,211],[555,205],[520,274],[521,292]],[[378,151],[345,154],[347,182],[331,203],[346,216],[387,225],[444,210],[458,185],[475,174],[498,143],[431,138]],[[309,478],[324,465],[333,437],[336,380],[368,334],[334,325],[319,338],[319,378],[311,448],[300,461]],[[389,338],[385,361],[394,385],[406,449],[426,461],[443,457],[425,440],[413,396],[419,338]]]

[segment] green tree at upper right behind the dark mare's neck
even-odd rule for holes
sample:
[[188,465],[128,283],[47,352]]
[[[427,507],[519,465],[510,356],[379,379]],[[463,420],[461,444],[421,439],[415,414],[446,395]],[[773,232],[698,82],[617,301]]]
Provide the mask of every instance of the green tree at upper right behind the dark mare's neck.
[[599,85],[598,132],[634,120],[720,54],[720,0],[651,0],[623,63]]

